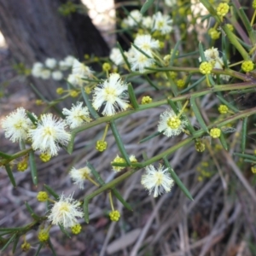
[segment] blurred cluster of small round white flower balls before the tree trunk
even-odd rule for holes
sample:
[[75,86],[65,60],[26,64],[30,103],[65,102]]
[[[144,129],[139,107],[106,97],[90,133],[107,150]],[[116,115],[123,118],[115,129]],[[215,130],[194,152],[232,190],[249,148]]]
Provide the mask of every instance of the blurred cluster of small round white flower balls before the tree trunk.
[[64,60],[56,61],[54,58],[48,58],[42,62],[35,62],[32,67],[32,76],[40,79],[49,79],[50,77],[54,80],[63,79],[63,71],[72,67],[74,57],[68,55]]

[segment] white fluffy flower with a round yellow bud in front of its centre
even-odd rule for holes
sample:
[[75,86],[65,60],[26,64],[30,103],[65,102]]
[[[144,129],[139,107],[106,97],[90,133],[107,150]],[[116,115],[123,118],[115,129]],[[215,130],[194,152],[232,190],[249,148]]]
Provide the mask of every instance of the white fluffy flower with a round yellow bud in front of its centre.
[[178,117],[173,110],[166,110],[160,114],[158,131],[163,132],[167,137],[173,137],[179,135],[186,125],[187,121]]

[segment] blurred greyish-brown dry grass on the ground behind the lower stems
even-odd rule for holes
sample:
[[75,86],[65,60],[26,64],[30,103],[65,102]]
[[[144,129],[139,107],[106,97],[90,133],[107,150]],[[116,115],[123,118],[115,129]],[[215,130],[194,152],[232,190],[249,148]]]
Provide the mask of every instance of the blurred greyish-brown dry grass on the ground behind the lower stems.
[[[137,90],[144,86],[146,84]],[[212,106],[212,102],[203,102],[204,106],[201,107],[209,114],[208,107]],[[143,111],[117,122],[127,152],[135,154],[138,160],[143,160],[143,153],[150,158],[183,139],[182,136],[160,136],[147,143],[138,144],[143,137],[155,131],[159,115],[164,109]],[[238,124],[238,131],[240,127]],[[90,194],[95,187],[88,184],[84,190],[79,190],[71,183],[67,175],[71,166],[84,166],[86,161],[90,161],[106,182],[111,181],[114,173],[110,161],[119,153],[112,134],[108,134],[106,152],[99,154],[92,149],[96,140],[102,137],[103,128],[95,127],[79,134],[72,155],[61,152],[48,163],[42,164],[38,161],[38,188],[32,185],[29,170],[24,173],[14,171],[17,182],[15,189],[9,183],[5,171],[1,169],[0,226],[17,227],[32,220],[24,201],[35,212],[44,214],[44,204],[36,200],[36,195],[43,189],[44,183],[58,193],[65,192],[68,195],[75,192],[77,198]],[[230,137],[233,136],[235,135]],[[1,147],[3,150],[9,143],[3,137],[2,142],[5,145],[4,148]],[[214,143],[210,147],[214,148]],[[239,167],[232,159],[233,150],[234,148],[230,152],[213,151],[212,155],[209,151],[199,154],[191,145],[172,155],[171,164],[193,195],[194,201],[189,201],[177,186],[171,193],[158,199],[148,196],[140,184],[143,170],[119,184],[118,189],[131,204],[133,212],[129,212],[116,201],[116,207],[121,212],[118,223],[111,223],[108,219],[110,206],[107,194],[96,196],[90,201],[90,224],[82,223],[83,232],[79,236],[68,239],[58,227],[51,229],[50,236],[58,255],[253,255],[248,246],[256,237],[253,215],[256,195],[251,186],[252,176],[245,166]],[[210,164],[212,177],[199,182],[196,170],[201,162]],[[26,238],[32,242],[35,241],[35,235],[36,230],[33,230]],[[28,255],[33,255],[34,252],[32,250]],[[50,255],[49,249],[44,248],[40,255]]]

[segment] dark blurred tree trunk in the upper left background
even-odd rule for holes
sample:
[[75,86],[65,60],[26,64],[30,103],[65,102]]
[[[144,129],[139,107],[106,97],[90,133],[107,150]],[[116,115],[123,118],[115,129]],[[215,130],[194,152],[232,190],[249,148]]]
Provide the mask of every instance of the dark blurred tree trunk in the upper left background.
[[[0,1],[0,30],[15,61],[32,67],[48,57],[61,60],[74,55],[83,60],[84,54],[108,55],[108,45],[90,17],[78,12],[64,17],[58,13],[61,3],[66,1]],[[55,89],[60,86],[52,79],[30,78],[29,82],[49,100],[55,98]]]

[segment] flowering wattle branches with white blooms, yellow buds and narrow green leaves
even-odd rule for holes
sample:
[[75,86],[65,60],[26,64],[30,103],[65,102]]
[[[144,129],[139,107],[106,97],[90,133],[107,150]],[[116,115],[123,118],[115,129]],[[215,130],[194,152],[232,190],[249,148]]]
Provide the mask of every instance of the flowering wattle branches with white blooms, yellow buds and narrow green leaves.
[[[26,202],[26,209],[30,212],[33,221],[24,227],[0,229],[2,250],[14,243],[15,251],[20,236],[26,236],[26,233],[33,228],[49,222],[49,214],[54,215],[51,218],[49,229],[51,225],[58,224],[61,231],[70,237],[67,229],[73,227],[76,218],[84,217],[84,221],[89,223],[90,201],[104,192],[109,193],[111,212],[119,215],[119,212],[113,207],[112,195],[124,207],[132,210],[131,205],[116,188],[119,183],[124,182],[135,172],[140,172],[142,168],[148,170],[143,176],[143,186],[148,189],[149,193],[154,191],[154,196],[158,196],[161,193],[169,192],[172,189],[171,184],[176,183],[178,189],[181,189],[189,200],[193,200],[189,188],[185,187],[182,179],[178,177],[178,172],[174,172],[170,165],[172,154],[180,148],[189,148],[193,143],[195,143],[195,150],[198,151],[198,154],[209,154],[212,157],[212,165],[216,165],[215,154],[218,150],[228,151],[229,149],[232,149],[232,152],[238,151],[233,154],[236,160],[241,158],[252,166],[256,165],[256,156],[250,154],[250,148],[247,148],[247,135],[253,129],[250,121],[255,116],[256,108],[241,109],[233,97],[234,94],[241,91],[247,93],[255,90],[256,78],[250,73],[254,65],[251,59],[253,59],[255,51],[252,26],[254,16],[250,21],[243,9],[237,9],[235,5],[224,4],[226,10],[232,9],[232,12],[243,21],[244,34],[247,35],[247,42],[250,42],[245,45],[241,43],[242,38],[239,38],[236,32],[230,29],[231,26],[228,26],[229,14],[225,13],[226,10],[219,15],[217,4],[201,0],[200,2],[209,13],[202,16],[201,13],[194,13],[191,10],[191,4],[188,1],[184,3],[177,1],[173,5],[169,3],[168,7],[159,3],[154,5],[154,2],[158,1],[146,1],[141,12],[131,11],[127,18],[122,20],[121,25],[124,31],[129,32],[135,38],[128,52],[125,52],[118,43],[109,58],[86,56],[83,63],[73,58],[72,65],[70,65],[70,59],[57,64],[57,61],[51,59],[48,60],[48,64],[46,63],[47,68],[42,63],[34,65],[32,68],[32,75],[38,79],[49,79],[52,75],[56,80],[66,81],[67,88],[56,89],[60,97],[51,102],[35,89],[40,102],[43,102],[45,106],[41,115],[37,117],[20,108],[3,120],[5,136],[14,143],[20,143],[20,151],[17,153],[0,152],[0,166],[5,167],[10,183],[16,186],[13,174],[15,160],[24,158],[29,160],[32,183],[38,185],[40,180],[38,180],[36,151],[43,156],[49,156],[42,157],[41,159],[44,161],[54,158],[61,148],[68,154],[73,154],[79,133],[100,125],[105,125],[106,128],[103,131],[102,140],[97,140],[97,142],[106,142],[109,126],[117,148],[119,148],[121,155],[119,158],[122,161],[115,162],[109,156],[109,166],[113,168],[113,172],[119,172],[119,174],[115,175],[113,180],[108,183],[100,175],[100,170],[96,170],[90,163],[76,170],[75,173],[70,171],[73,172],[73,182],[79,184],[80,187],[83,187],[84,182],[93,183],[96,187],[89,195],[85,194],[81,201],[74,200],[73,195],[68,197],[58,195],[49,185],[44,184],[44,189],[51,197],[47,203],[51,203],[53,206],[59,204],[60,207],[53,210],[54,207],[47,205],[49,211],[44,216],[38,216]],[[148,10],[154,9],[151,7],[155,8],[155,14],[146,16]],[[170,15],[162,14],[161,11],[165,8],[168,8]],[[80,7],[71,1],[62,4],[59,8],[59,12],[64,16],[77,11],[81,11]],[[213,26],[210,22],[212,18],[215,20]],[[208,26],[212,26],[209,31],[214,30],[213,36],[212,33],[204,35],[206,39],[203,42],[198,40],[198,33],[201,32],[202,27],[196,26],[197,20],[205,20]],[[189,24],[191,27],[186,27],[184,24]],[[175,38],[176,32],[174,32],[173,26],[176,26],[180,32],[179,38]],[[220,37],[220,34],[222,49],[217,49],[212,45],[214,45],[214,40]],[[230,63],[230,54],[235,50],[240,53],[241,59],[236,63]],[[104,63],[103,71],[93,72],[90,70],[89,65],[92,62]],[[67,69],[73,67],[73,71],[64,80],[61,77],[62,73],[56,72],[59,72],[65,65]],[[60,68],[60,70],[56,68]],[[22,64],[16,65],[15,69],[20,74],[28,75],[26,67]],[[148,102],[145,101],[142,104],[139,104],[141,101],[138,100],[142,96],[142,91],[137,86],[139,84],[145,84],[146,89],[143,88],[143,96],[150,95]],[[77,100],[80,102],[73,104],[71,109],[56,108],[58,102],[62,102],[68,97],[73,98],[73,102]],[[211,114],[209,114],[209,108],[205,108],[206,99],[213,102],[212,105],[209,105]],[[226,111],[219,113],[218,106],[221,103],[226,106]],[[146,150],[139,156],[129,155],[127,152],[129,145],[125,144],[122,132],[119,131],[119,119],[129,119],[131,114],[143,113],[148,109],[154,111],[163,106],[167,110],[160,114],[158,125],[155,122],[154,131],[148,136],[144,136],[141,131],[142,137],[137,143],[146,143],[163,136],[169,137],[170,141],[173,137],[178,137],[176,143],[170,143],[169,148],[155,153],[150,158],[147,157]],[[59,113],[60,118],[56,118],[50,113],[53,112],[53,109]],[[239,126],[239,122],[241,122],[241,132],[234,143],[229,131],[236,131],[234,127]],[[69,128],[67,128],[68,125]],[[215,133],[217,131],[218,134],[212,136],[211,131],[215,131]],[[211,140],[218,147],[214,148],[214,143],[209,143]],[[107,144],[107,142],[104,144],[106,145],[104,150],[99,150],[99,160],[101,160],[102,151],[108,150]],[[88,147],[91,147],[91,150],[96,150],[94,145]],[[139,157],[143,160],[138,161]],[[154,168],[153,165],[162,162],[166,169]],[[210,171],[208,169],[208,166],[198,168],[199,181],[210,178],[215,173],[212,169]],[[60,223],[53,221],[55,216],[60,216],[61,219],[63,206],[72,209],[70,212],[67,210],[67,216],[65,215],[67,219],[63,220],[62,218]],[[112,220],[116,221],[117,219],[119,218]],[[36,254],[44,245],[47,245],[55,255],[55,249],[50,239],[45,241],[45,244],[40,241]],[[252,247],[252,249],[254,248]]]

